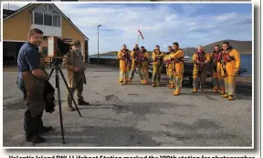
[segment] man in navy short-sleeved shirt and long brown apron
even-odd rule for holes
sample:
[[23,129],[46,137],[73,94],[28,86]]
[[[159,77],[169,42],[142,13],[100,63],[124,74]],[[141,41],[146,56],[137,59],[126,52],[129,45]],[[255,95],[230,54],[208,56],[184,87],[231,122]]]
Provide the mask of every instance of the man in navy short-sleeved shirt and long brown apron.
[[33,143],[45,142],[38,136],[41,132],[48,132],[52,127],[43,126],[42,114],[46,107],[44,98],[45,81],[48,74],[45,72],[45,61],[38,52],[41,45],[43,32],[37,28],[29,30],[27,42],[20,48],[17,57],[18,87],[24,92],[26,112],[24,128],[26,141]]

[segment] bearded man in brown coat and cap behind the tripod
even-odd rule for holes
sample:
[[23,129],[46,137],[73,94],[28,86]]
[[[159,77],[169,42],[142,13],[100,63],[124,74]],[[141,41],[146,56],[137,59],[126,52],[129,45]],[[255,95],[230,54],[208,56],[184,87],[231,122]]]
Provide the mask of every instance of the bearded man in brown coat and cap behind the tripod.
[[[89,105],[89,102],[83,100],[83,84],[86,84],[85,77],[85,65],[83,63],[83,56],[79,51],[80,42],[79,40],[70,43],[71,49],[68,51],[63,58],[62,66],[68,70],[68,88],[74,96],[74,92],[77,90],[78,104]],[[72,107],[72,99],[68,93],[68,111],[75,111]]]

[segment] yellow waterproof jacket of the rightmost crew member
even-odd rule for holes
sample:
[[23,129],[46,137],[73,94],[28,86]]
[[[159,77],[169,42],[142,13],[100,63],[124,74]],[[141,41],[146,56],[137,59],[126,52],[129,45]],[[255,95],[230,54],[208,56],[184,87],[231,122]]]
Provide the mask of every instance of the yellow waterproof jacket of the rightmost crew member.
[[[222,56],[226,55],[226,51],[222,51]],[[221,72],[222,76],[227,75],[235,75],[235,70],[239,70],[240,68],[240,55],[237,49],[232,48],[229,52],[229,56],[234,58],[231,61],[226,62],[226,65],[224,63],[224,59],[221,58],[220,62],[217,62],[217,71]]]

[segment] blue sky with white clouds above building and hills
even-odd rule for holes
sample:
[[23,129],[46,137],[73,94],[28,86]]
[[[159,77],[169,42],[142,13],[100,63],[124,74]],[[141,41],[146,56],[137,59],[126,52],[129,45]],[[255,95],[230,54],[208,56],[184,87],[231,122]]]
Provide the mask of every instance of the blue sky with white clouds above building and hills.
[[[16,10],[26,4],[12,3]],[[252,40],[251,4],[56,4],[89,37],[89,55],[139,45],[166,51],[173,42],[197,47],[219,40]],[[5,3],[4,8],[8,5]],[[5,31],[5,30],[4,30]]]

